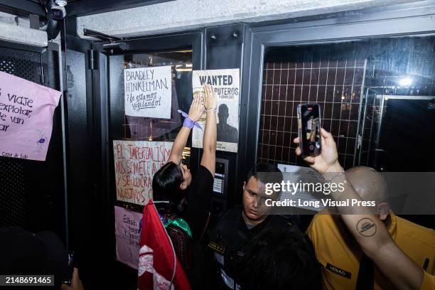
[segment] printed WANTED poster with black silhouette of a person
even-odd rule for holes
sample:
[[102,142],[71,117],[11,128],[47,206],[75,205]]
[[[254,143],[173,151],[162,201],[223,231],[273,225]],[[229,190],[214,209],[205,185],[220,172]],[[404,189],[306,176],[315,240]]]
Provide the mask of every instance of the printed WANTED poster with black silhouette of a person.
[[[218,141],[216,149],[237,152],[239,141],[239,69],[194,70],[192,75],[193,96],[204,97],[204,85],[209,84],[218,95],[216,117],[218,121]],[[198,122],[205,129],[205,114]],[[192,145],[203,148],[203,134],[193,127]]]

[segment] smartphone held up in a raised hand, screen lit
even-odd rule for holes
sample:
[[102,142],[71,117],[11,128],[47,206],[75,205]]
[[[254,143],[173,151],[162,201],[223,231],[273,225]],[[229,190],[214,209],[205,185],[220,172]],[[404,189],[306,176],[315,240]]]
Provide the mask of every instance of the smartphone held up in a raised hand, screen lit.
[[298,134],[302,156],[321,154],[321,112],[318,104],[299,104]]

